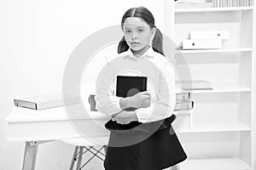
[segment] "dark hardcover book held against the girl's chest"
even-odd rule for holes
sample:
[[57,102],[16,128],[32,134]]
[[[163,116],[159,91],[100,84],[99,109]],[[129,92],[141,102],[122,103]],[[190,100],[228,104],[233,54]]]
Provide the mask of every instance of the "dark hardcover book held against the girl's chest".
[[[147,91],[147,77],[117,76],[116,96],[126,98],[139,92]],[[127,108],[125,111],[135,111],[136,108]]]

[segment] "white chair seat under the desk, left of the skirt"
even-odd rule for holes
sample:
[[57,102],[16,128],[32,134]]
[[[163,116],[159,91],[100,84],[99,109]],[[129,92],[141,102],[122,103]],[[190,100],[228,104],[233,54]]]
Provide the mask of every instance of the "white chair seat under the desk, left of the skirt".
[[61,142],[66,144],[72,144],[75,146],[96,146],[96,145],[108,145],[109,137],[90,137],[90,138],[73,138],[73,139],[61,139]]

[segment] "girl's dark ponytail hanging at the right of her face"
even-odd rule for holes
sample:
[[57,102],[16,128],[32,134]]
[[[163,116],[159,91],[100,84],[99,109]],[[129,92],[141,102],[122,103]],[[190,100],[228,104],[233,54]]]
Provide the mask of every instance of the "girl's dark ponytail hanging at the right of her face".
[[155,52],[165,56],[163,50],[163,35],[158,28],[155,27],[155,29],[156,31],[154,34],[154,39],[152,41],[152,48]]

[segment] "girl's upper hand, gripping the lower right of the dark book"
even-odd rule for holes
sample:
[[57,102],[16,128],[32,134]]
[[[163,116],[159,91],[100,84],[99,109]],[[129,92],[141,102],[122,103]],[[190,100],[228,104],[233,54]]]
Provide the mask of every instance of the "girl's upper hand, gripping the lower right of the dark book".
[[147,91],[140,92],[134,96],[128,97],[129,106],[134,108],[148,107],[151,102],[151,94]]

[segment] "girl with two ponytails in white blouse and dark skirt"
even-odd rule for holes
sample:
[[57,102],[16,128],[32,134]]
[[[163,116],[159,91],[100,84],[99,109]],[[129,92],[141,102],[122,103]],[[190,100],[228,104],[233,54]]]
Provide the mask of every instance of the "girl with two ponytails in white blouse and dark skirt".
[[[106,170],[172,167],[187,156],[172,132],[175,77],[162,49],[162,34],[154,26],[154,16],[144,7],[127,10],[121,27],[124,37],[119,42],[118,62],[105,66],[96,82],[96,109],[112,116],[106,124],[108,129],[130,131],[111,131],[104,167]],[[141,72],[154,84],[154,90],[127,98],[115,96],[114,79],[125,70]],[[137,109],[125,111],[129,107]]]

